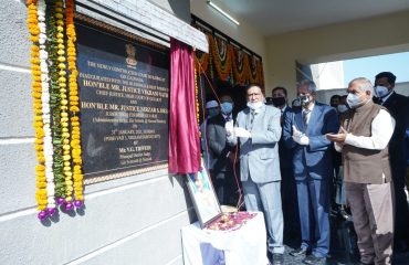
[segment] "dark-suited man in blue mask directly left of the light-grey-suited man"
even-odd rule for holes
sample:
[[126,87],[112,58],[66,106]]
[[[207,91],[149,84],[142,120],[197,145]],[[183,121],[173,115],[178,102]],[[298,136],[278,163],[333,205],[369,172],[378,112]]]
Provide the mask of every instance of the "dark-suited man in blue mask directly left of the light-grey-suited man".
[[221,113],[208,121],[209,151],[214,160],[211,178],[219,202],[237,205],[238,187],[233,172],[234,146],[227,141],[226,124],[233,123],[233,100],[230,96],[220,97]]

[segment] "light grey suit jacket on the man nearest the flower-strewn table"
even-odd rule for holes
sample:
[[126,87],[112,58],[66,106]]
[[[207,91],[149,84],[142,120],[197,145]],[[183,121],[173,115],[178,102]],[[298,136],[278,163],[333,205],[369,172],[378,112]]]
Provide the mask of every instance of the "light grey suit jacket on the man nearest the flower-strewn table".
[[[240,138],[240,179],[247,181],[249,173],[256,183],[266,183],[281,180],[279,160],[279,140],[281,112],[273,106],[262,106],[254,115],[253,126],[250,128],[252,114],[250,108],[240,112],[235,127],[251,129],[251,138]],[[229,138],[233,144],[237,138]]]

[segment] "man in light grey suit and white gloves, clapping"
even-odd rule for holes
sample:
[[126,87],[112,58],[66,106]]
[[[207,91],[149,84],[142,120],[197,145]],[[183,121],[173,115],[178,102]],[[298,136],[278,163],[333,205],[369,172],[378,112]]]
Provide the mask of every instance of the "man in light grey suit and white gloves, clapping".
[[264,104],[260,86],[247,88],[248,108],[240,112],[233,128],[226,126],[228,140],[240,140],[240,178],[248,211],[264,213],[272,264],[284,264],[283,211],[279,140],[281,112]]

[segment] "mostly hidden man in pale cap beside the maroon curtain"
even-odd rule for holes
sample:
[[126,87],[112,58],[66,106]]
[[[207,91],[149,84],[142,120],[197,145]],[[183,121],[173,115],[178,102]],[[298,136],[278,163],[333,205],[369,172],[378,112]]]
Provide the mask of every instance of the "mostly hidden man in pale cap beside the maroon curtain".
[[209,170],[211,170],[211,168],[213,167],[213,159],[211,157],[211,153],[209,153],[209,140],[206,138],[208,131],[208,120],[209,118],[217,116],[219,113],[220,108],[218,102],[209,100],[206,103],[206,118],[200,125],[200,146],[204,165]]

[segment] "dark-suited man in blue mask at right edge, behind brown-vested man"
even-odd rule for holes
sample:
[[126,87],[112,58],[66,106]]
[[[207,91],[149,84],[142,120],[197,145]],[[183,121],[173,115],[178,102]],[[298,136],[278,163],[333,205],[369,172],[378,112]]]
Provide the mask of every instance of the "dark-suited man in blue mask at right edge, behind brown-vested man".
[[406,156],[405,135],[408,126],[409,100],[394,91],[396,76],[382,72],[375,76],[374,102],[386,107],[395,118],[396,126],[389,141],[389,159],[395,188],[395,244],[394,251],[409,250],[409,205],[405,193]]

